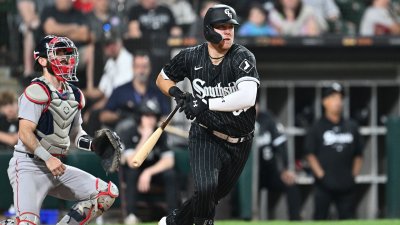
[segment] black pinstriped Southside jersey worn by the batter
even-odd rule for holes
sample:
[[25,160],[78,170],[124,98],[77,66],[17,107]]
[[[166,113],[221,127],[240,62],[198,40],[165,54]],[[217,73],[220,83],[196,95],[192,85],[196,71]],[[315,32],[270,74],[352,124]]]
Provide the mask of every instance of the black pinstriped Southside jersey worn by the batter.
[[[242,81],[260,84],[253,53],[238,44],[232,45],[218,66],[209,58],[207,43],[184,49],[164,66],[162,72],[175,82],[187,77],[193,94],[204,99],[235,92]],[[255,113],[254,106],[234,112],[207,110],[196,121],[231,136],[244,136],[254,130]]]

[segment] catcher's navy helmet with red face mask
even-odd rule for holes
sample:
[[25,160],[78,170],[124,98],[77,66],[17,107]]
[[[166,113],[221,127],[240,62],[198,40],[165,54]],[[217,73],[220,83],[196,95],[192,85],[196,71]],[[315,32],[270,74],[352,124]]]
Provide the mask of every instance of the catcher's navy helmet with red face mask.
[[67,37],[47,35],[33,52],[35,67],[40,67],[39,57],[47,58],[47,69],[60,81],[78,81],[76,68],[79,53],[75,44]]

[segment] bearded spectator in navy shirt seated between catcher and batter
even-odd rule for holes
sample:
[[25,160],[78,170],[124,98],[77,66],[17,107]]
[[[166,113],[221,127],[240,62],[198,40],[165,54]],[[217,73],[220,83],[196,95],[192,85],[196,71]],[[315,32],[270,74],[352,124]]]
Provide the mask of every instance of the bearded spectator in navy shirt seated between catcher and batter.
[[[166,115],[170,111],[170,102],[165,99],[158,89],[149,85],[151,63],[149,55],[137,52],[131,63],[135,76],[129,82],[116,88],[104,110],[100,113],[100,121],[109,126],[130,126],[137,115],[138,106],[146,99],[156,99],[161,107],[161,113]],[[127,125],[128,124],[128,125]]]

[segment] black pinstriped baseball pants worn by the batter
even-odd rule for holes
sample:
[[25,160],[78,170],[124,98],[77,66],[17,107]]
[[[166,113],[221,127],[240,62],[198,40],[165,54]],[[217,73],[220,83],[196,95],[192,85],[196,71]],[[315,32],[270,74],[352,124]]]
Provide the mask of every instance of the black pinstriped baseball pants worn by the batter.
[[231,144],[192,123],[189,137],[194,194],[167,217],[169,225],[212,225],[215,206],[236,184],[252,140]]

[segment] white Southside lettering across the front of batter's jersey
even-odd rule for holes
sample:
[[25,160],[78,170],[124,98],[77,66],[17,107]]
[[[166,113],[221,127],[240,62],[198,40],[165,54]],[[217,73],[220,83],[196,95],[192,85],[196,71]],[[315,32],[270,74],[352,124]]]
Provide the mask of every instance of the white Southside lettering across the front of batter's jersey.
[[229,83],[228,87],[222,87],[221,83],[218,83],[214,87],[205,86],[205,83],[206,82],[204,80],[198,78],[193,80],[193,89],[196,91],[197,95],[200,98],[204,98],[207,96],[212,98],[224,97],[238,90],[235,82]]

